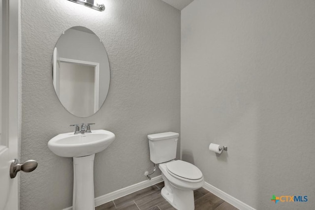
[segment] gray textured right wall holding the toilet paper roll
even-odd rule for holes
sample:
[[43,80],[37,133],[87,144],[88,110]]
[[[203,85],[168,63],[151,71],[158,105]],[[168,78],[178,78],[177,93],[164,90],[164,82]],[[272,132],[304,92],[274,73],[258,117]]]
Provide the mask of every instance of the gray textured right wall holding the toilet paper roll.
[[[182,10],[183,159],[258,210],[315,206],[314,11],[314,0],[194,0]],[[228,151],[210,152],[211,142]],[[274,204],[273,194],[309,200]]]

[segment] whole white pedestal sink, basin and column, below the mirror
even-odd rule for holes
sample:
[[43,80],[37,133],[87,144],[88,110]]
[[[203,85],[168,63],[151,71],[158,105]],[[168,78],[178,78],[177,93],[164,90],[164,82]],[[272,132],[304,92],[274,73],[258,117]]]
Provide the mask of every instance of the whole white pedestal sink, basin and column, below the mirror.
[[94,157],[115,139],[107,130],[92,133],[63,133],[48,142],[48,148],[61,157],[73,157],[72,210],[94,210]]

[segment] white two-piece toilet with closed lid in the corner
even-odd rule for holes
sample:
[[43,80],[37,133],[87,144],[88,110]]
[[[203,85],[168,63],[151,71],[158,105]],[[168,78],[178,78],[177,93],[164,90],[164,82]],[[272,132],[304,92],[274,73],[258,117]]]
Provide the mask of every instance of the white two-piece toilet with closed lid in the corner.
[[162,172],[163,198],[177,210],[194,210],[193,190],[202,187],[204,179],[196,166],[175,160],[178,137],[174,132],[148,135],[150,159]]

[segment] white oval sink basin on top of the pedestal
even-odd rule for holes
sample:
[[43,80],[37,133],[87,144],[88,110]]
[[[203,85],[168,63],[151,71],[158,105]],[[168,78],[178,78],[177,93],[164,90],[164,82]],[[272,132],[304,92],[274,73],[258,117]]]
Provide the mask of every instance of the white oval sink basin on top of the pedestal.
[[115,139],[107,130],[93,130],[92,133],[62,133],[48,142],[48,148],[62,157],[82,157],[105,150]]

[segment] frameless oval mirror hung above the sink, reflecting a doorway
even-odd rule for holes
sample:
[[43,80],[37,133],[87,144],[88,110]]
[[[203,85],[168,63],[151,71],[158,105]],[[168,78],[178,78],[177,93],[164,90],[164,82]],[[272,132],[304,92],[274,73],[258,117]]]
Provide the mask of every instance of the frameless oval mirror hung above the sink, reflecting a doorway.
[[105,48],[92,30],[72,27],[58,39],[52,59],[53,84],[63,107],[89,117],[103,105],[110,70]]

